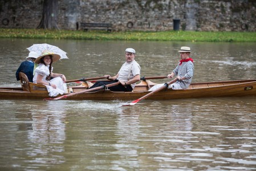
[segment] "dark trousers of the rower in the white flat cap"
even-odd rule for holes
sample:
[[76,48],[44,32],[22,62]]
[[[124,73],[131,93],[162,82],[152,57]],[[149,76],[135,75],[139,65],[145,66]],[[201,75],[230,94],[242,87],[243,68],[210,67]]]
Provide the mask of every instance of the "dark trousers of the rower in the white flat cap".
[[[107,84],[112,84],[112,83],[116,83],[117,80],[115,81],[110,81],[110,82],[102,82],[102,81],[98,81],[94,84],[94,86],[90,87],[90,88],[95,88],[95,87],[100,87],[100,86],[105,86]],[[90,89],[89,88],[89,89]],[[110,91],[117,91],[117,92],[129,92],[132,91],[132,86],[127,85],[127,86],[122,86],[122,84],[118,84],[117,86],[112,86],[112,87],[108,87],[108,89]]]

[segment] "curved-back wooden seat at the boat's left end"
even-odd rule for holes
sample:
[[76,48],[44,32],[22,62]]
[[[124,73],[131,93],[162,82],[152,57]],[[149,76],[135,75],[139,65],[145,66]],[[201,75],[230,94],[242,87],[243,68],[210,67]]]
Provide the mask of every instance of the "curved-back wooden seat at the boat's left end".
[[23,91],[28,91],[28,92],[46,92],[47,91],[46,86],[29,82],[27,75],[24,74],[23,72],[19,72],[19,79],[21,80],[21,87]]

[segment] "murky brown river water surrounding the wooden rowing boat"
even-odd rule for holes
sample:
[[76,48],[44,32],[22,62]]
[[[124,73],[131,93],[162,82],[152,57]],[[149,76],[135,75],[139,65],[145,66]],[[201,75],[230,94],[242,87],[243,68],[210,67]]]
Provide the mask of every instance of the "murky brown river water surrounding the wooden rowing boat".
[[[256,43],[0,39],[0,86],[20,84],[26,47],[68,52],[68,80],[115,75],[135,48],[141,76],[169,74],[192,48],[193,82],[256,79]],[[152,80],[166,82],[166,80]],[[1,170],[256,170],[256,97],[124,101],[1,99]]]

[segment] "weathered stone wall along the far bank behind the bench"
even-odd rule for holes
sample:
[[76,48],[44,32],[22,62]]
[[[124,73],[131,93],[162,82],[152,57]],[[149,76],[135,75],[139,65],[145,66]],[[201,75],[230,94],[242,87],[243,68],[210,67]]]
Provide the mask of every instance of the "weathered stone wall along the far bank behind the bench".
[[[0,27],[36,28],[43,0],[0,0]],[[58,26],[76,30],[80,22],[112,23],[115,30],[256,31],[251,0],[62,0]]]

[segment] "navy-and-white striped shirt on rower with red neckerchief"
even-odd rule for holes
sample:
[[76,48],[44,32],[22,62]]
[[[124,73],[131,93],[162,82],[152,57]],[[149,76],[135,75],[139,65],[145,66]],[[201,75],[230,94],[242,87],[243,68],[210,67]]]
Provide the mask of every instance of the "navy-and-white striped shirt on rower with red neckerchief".
[[194,74],[194,64],[191,61],[182,62],[181,65],[178,66],[172,71],[176,76],[185,77],[185,80],[177,80],[176,83],[180,84],[183,89],[189,87],[192,82],[193,74]]

